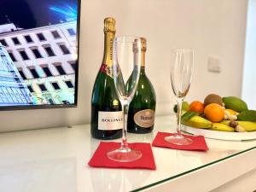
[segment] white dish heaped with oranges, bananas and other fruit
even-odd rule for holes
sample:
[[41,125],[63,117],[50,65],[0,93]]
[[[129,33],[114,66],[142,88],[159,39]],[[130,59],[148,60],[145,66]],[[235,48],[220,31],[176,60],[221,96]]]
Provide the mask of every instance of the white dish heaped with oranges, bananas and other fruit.
[[183,131],[193,135],[232,141],[256,139],[256,111],[236,96],[210,94],[204,102],[183,103],[181,122]]

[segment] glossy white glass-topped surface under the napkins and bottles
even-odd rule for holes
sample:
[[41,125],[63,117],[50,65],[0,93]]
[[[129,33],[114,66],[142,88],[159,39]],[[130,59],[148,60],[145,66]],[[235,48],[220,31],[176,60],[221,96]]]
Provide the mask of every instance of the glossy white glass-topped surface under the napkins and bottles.
[[[129,133],[128,141],[152,143],[157,131],[175,129],[175,116],[156,117],[152,133]],[[140,191],[256,148],[256,140],[206,141],[207,152],[153,147],[151,171],[88,166],[101,142],[90,137],[90,125],[2,133],[0,191]]]

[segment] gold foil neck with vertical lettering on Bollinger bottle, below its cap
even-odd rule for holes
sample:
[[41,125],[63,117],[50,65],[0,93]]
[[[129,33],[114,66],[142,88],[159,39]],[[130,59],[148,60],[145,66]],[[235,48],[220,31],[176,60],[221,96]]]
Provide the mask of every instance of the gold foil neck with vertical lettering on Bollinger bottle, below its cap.
[[103,64],[111,67],[113,64],[113,38],[115,32],[105,32]]

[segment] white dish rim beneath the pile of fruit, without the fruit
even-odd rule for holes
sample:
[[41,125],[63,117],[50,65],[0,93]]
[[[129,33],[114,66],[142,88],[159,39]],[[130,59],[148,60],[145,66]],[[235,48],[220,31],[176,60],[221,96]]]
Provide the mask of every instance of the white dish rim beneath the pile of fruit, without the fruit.
[[225,132],[225,131],[212,131],[206,129],[199,129],[182,125],[184,132],[196,135],[204,136],[206,138],[218,139],[218,140],[229,140],[229,141],[245,141],[256,139],[256,131],[252,132]]

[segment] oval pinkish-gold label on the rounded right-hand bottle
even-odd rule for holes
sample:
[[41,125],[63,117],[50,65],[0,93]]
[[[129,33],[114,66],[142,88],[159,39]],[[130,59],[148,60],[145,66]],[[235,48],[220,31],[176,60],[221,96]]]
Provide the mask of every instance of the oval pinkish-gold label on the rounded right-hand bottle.
[[135,113],[134,122],[144,128],[149,128],[154,125],[154,110],[145,109]]

